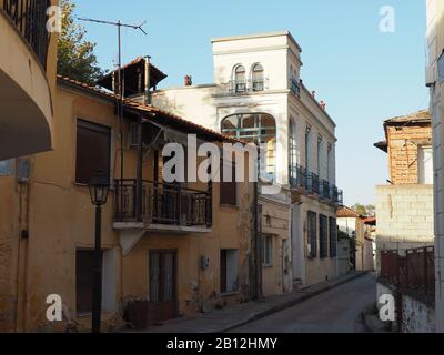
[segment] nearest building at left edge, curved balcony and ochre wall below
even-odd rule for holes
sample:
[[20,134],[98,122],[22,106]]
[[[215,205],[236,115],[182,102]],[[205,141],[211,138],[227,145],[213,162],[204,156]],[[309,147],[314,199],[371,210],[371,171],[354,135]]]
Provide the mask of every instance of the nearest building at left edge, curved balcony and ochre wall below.
[[14,324],[23,226],[22,220],[12,219],[24,200],[19,200],[22,189],[11,175],[26,172],[27,163],[13,159],[53,148],[58,36],[47,30],[54,14],[47,16],[47,10],[56,4],[57,0],[0,4],[0,331]]

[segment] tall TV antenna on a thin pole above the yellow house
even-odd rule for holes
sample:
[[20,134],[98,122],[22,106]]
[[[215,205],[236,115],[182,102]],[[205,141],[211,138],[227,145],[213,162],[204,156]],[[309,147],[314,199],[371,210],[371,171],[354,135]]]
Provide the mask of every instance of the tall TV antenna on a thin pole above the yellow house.
[[[133,30],[139,30],[143,34],[147,36],[147,32],[143,30],[143,26],[147,23],[147,21],[143,21],[140,24],[128,24],[128,23],[122,23],[120,20],[113,22],[113,21],[103,21],[103,20],[95,20],[95,19],[89,19],[89,18],[78,18],[79,21],[84,21],[84,22],[93,22],[93,23],[99,23],[99,24],[107,24],[107,26],[113,26],[117,27],[118,29],[118,116],[120,120],[120,179],[123,184],[123,179],[124,179],[124,156],[123,156],[123,101],[124,101],[124,92],[123,92],[123,84],[122,84],[122,50],[121,50],[121,29],[123,28],[129,28]],[[115,88],[114,88],[115,90]]]

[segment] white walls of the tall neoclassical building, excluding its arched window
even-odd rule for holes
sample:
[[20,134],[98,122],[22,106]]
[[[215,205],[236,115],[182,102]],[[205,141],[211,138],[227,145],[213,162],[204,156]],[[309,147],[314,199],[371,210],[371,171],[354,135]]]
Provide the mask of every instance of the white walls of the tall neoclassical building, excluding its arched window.
[[[212,84],[160,90],[152,103],[220,132],[224,119],[238,114],[269,114],[275,120],[275,180],[289,194],[290,164],[300,164],[336,185],[335,123],[302,84],[301,48],[290,32],[214,39]],[[254,69],[263,69],[263,90],[253,90]],[[245,90],[236,92],[238,69]],[[291,130],[295,148],[290,158]],[[307,141],[305,140],[307,138]],[[284,199],[285,200],[285,199]],[[287,199],[286,200],[291,200]],[[337,275],[336,260],[307,257],[307,211],[335,217],[336,205],[301,193],[292,205],[293,278],[313,284]],[[319,223],[317,223],[319,229]],[[319,245],[320,243],[317,243]]]

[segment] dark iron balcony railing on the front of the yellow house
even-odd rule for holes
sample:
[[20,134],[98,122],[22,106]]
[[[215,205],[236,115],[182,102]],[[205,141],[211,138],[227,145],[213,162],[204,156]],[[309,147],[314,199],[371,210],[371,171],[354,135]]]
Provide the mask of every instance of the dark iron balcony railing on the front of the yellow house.
[[212,225],[210,192],[144,180],[141,193],[141,221],[138,221],[137,180],[115,181],[115,222],[206,226]]

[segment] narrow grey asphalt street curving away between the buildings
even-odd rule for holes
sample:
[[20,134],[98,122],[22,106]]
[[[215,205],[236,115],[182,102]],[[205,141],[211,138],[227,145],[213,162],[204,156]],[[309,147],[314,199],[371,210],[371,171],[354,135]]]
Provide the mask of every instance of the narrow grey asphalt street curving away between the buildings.
[[360,314],[375,293],[369,274],[232,333],[363,333]]

